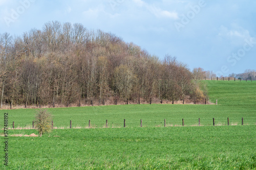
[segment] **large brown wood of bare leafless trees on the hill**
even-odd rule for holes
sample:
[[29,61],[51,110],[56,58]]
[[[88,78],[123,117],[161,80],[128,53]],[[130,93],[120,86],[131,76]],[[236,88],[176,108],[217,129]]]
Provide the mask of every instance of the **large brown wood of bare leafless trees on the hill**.
[[175,57],[148,54],[112,33],[50,21],[21,36],[0,34],[1,105],[78,100],[204,100],[205,90]]

